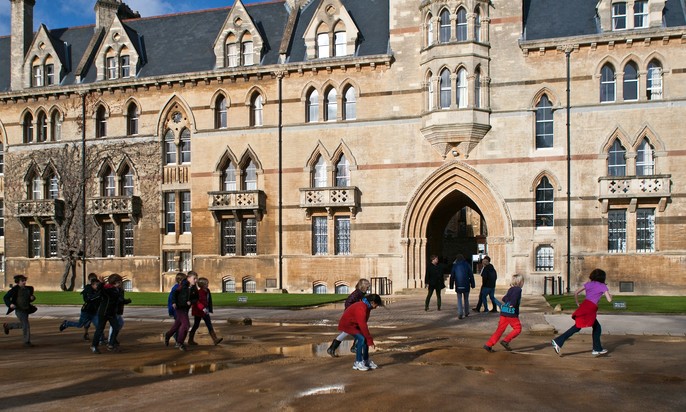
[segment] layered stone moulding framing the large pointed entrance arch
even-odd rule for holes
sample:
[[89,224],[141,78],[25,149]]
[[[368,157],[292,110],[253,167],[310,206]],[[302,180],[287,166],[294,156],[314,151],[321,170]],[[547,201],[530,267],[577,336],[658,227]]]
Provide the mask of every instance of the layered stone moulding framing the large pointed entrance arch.
[[400,229],[407,275],[405,287],[423,287],[429,220],[441,201],[455,191],[467,196],[479,208],[488,226],[489,254],[494,264],[498,262],[505,269],[506,246],[513,241],[509,209],[483,175],[465,163],[454,161],[428,176],[408,202]]

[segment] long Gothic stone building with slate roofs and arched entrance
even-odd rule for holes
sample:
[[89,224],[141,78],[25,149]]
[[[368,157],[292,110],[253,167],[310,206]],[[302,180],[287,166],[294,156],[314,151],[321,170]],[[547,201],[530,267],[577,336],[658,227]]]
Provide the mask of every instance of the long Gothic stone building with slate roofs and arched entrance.
[[686,290],[682,0],[98,0],[37,31],[10,1],[5,287],[71,259],[77,288],[391,293],[462,253],[527,293]]

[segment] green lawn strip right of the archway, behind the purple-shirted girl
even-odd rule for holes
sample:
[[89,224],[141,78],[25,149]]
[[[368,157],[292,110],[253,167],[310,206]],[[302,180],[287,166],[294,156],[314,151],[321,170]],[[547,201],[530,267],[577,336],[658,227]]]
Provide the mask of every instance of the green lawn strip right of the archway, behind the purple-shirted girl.
[[[545,299],[550,306],[561,305],[566,312],[576,309],[574,295],[546,295]],[[579,295],[579,303],[583,295]],[[613,303],[624,302],[626,309],[614,309]],[[613,296],[612,303],[608,303],[603,297],[598,307],[599,313],[686,313],[686,297],[684,296]]]

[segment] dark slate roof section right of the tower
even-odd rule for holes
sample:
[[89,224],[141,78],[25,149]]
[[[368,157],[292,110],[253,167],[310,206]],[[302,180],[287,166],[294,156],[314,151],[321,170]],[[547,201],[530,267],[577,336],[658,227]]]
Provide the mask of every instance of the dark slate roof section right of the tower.
[[[667,27],[686,25],[682,0],[667,0]],[[600,34],[596,17],[598,0],[524,0],[523,40],[543,40]]]

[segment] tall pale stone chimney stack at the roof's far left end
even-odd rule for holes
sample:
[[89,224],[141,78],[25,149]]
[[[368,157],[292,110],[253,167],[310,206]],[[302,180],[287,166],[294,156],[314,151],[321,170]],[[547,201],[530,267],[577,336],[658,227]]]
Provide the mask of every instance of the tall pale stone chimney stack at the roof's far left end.
[[23,88],[24,59],[33,41],[33,6],[36,0],[10,0],[12,7],[11,87]]

